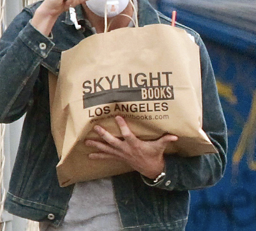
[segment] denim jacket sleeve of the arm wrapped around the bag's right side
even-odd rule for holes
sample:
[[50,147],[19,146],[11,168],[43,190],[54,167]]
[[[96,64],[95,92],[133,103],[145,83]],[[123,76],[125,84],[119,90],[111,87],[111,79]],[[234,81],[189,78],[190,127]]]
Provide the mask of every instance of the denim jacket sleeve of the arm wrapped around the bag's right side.
[[200,46],[203,130],[219,153],[184,158],[165,155],[165,177],[156,184],[142,177],[149,186],[167,190],[192,190],[215,185],[222,178],[227,163],[227,127],[220,106],[216,81],[208,52],[198,35]]

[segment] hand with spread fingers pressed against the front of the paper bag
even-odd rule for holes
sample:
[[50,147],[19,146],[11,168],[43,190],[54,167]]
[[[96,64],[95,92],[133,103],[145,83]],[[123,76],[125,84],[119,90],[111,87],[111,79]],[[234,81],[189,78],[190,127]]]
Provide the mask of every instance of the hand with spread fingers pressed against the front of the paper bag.
[[86,140],[87,146],[99,150],[98,153],[91,153],[89,158],[124,161],[145,177],[156,178],[164,170],[164,150],[167,144],[177,141],[178,137],[167,134],[157,141],[141,141],[130,131],[122,117],[117,116],[115,119],[124,141],[115,138],[104,128],[96,125],[94,130],[107,144]]

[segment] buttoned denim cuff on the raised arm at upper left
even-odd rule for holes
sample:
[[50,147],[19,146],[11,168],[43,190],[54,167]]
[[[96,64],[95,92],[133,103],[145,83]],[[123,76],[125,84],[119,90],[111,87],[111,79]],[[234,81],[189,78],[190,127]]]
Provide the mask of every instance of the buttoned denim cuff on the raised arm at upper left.
[[32,26],[31,21],[20,32],[19,37],[32,51],[42,58],[46,58],[53,46],[55,46],[51,38],[46,37]]

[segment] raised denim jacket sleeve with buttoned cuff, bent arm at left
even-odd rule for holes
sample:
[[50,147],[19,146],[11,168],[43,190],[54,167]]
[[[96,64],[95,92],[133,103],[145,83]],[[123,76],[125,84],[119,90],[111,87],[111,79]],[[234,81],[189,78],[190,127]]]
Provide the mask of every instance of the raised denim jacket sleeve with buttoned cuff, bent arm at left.
[[0,123],[10,123],[26,112],[32,90],[54,43],[29,22],[32,12],[24,9],[0,40]]

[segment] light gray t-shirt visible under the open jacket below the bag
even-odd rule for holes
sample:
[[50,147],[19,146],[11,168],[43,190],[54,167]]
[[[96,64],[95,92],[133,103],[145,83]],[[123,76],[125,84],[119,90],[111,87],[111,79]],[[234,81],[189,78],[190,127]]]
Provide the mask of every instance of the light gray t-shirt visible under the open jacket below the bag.
[[55,228],[40,222],[40,231],[120,231],[111,178],[75,184],[67,215]]

